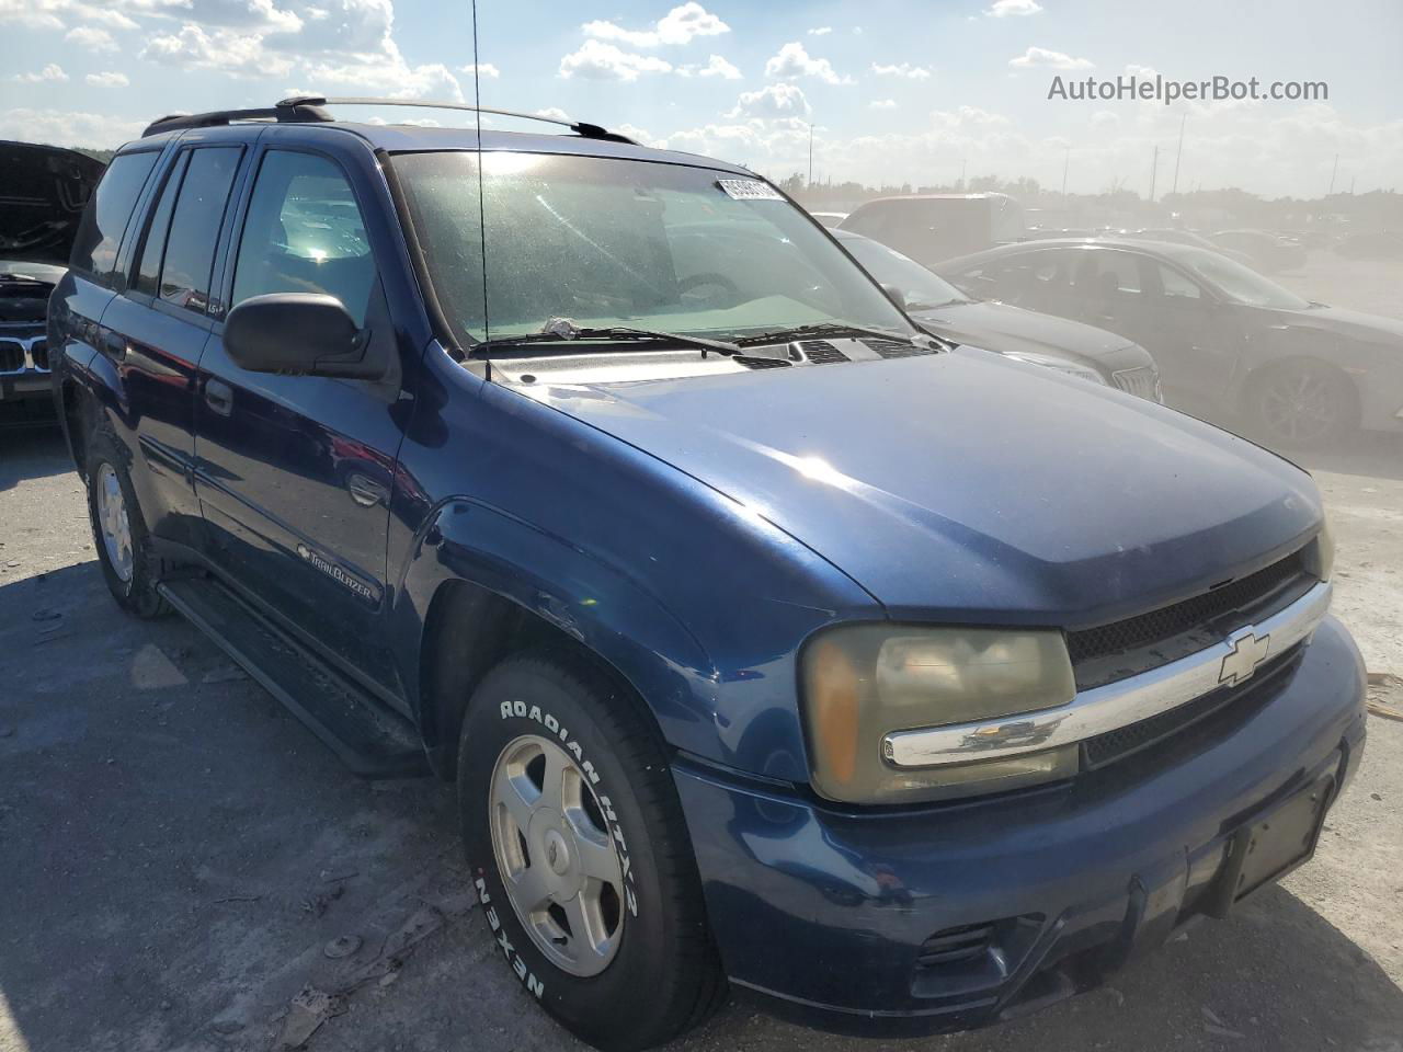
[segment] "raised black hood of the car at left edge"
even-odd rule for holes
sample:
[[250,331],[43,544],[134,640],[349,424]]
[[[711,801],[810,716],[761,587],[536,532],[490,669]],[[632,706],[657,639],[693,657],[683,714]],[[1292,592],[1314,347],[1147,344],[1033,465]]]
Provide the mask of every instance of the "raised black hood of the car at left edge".
[[105,168],[76,150],[0,142],[0,259],[67,267]]

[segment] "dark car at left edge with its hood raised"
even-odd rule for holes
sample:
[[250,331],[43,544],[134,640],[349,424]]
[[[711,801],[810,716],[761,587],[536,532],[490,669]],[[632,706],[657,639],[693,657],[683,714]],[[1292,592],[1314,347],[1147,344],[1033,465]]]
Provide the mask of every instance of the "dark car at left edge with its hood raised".
[[74,150],[0,142],[0,422],[53,421],[49,293],[102,167]]

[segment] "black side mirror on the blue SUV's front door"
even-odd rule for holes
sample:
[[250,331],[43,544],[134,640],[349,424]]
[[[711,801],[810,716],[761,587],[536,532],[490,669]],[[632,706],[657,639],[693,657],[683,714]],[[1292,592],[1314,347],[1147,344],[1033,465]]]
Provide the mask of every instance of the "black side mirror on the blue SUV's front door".
[[251,296],[224,318],[224,351],[254,373],[376,380],[384,363],[368,353],[369,337],[341,300],[323,293]]

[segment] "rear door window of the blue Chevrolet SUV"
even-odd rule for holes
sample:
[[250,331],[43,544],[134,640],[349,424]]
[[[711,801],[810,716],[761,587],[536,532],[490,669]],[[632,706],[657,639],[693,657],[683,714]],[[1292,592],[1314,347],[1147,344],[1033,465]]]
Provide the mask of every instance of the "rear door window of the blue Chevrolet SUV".
[[159,288],[167,303],[199,313],[209,307],[215,243],[241,153],[237,146],[205,146],[191,153],[166,237]]

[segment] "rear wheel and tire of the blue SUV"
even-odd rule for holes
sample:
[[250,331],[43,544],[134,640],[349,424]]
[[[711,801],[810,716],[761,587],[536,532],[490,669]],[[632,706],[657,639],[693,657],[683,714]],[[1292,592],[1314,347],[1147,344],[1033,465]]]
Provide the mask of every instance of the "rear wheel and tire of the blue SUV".
[[111,435],[87,440],[88,520],[93,547],[108,591],[133,617],[164,617],[170,603],[156,591],[161,561],[152,554],[152,537],[132,490],[128,456]]

